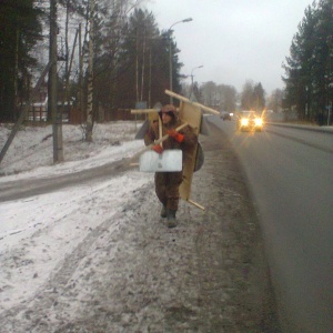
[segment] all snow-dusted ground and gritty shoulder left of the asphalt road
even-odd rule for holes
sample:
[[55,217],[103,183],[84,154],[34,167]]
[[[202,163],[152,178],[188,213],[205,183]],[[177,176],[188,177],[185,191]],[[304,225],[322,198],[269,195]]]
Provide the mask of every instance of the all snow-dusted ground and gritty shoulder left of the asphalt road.
[[[200,138],[205,163],[191,199],[206,210],[181,201],[179,225],[168,229],[153,174],[112,169],[143,148],[133,140],[139,127],[98,124],[87,143],[80,127],[64,125],[65,162],[57,165],[51,127],[17,134],[0,164],[0,332],[279,333],[260,228],[230,142],[216,128]],[[0,147],[9,133],[0,125]],[[3,199],[17,183],[60,179],[61,190]]]

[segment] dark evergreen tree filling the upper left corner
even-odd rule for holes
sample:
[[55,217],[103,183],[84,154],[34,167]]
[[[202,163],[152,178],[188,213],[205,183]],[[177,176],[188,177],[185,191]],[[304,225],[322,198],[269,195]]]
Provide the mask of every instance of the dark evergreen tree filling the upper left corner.
[[41,38],[40,16],[32,0],[0,3],[0,121],[16,121],[17,103],[29,95],[29,69],[36,64],[30,54]]

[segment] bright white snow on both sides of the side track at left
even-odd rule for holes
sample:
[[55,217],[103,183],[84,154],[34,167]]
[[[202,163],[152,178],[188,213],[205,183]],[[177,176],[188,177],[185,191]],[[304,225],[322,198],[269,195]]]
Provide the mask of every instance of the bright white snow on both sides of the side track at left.
[[[8,181],[69,174],[131,157],[143,147],[142,140],[133,140],[139,127],[134,122],[98,124],[93,143],[87,143],[80,127],[63,125],[65,162],[57,165],[52,165],[52,128],[23,127],[0,165],[0,189]],[[9,127],[0,124],[1,148],[9,133]],[[31,297],[91,230],[151,182],[151,173],[133,169],[102,183],[1,202],[0,312]]]

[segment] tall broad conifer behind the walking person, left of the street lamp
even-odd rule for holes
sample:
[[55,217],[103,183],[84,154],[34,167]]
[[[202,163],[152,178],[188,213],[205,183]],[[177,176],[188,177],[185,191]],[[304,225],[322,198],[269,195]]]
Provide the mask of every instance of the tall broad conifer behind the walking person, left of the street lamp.
[[148,101],[150,105],[167,102],[168,33],[161,33],[152,13],[141,9],[130,16],[124,30],[117,54],[117,104],[133,108],[135,101]]

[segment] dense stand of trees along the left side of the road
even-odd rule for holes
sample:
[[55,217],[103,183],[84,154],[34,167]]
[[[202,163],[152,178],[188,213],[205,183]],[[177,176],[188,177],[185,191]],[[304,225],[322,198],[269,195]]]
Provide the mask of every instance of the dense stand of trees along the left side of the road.
[[[67,95],[63,91],[65,87],[69,91],[68,98],[80,100],[83,109],[88,103],[85,46],[89,43],[90,2],[57,0],[58,56],[64,61],[58,67],[59,99],[62,101],[62,95]],[[170,40],[170,31],[160,31],[153,14],[139,9],[142,2],[144,1],[95,0],[94,33],[91,37],[93,75],[90,80],[93,85],[93,120],[97,119],[95,111],[99,105],[115,110],[133,108],[135,101],[148,101],[150,107],[157,101],[169,101],[164,90],[169,87],[170,41],[173,50],[173,88],[175,92],[180,91],[180,50]],[[49,0],[0,2],[0,120],[14,120],[16,99],[19,97],[21,103],[28,100],[32,85],[30,82],[36,79],[31,73],[47,64],[49,44],[44,41],[48,39],[39,43],[39,38],[49,36]],[[83,33],[80,34],[83,47],[81,54],[78,54],[79,48],[74,54],[71,43],[79,23],[83,27]],[[19,33],[14,33],[16,29]],[[4,48],[4,44],[8,47]],[[38,49],[40,46],[44,49]],[[74,60],[70,63],[72,54]]]

